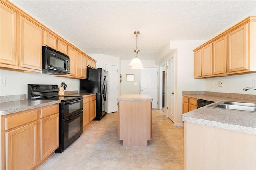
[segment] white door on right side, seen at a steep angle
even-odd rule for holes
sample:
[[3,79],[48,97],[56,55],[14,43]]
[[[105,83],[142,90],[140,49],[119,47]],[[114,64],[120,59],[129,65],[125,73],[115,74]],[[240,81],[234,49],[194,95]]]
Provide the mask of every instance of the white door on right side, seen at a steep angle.
[[174,122],[174,87],[175,87],[175,62],[174,57],[168,61],[168,117]]

